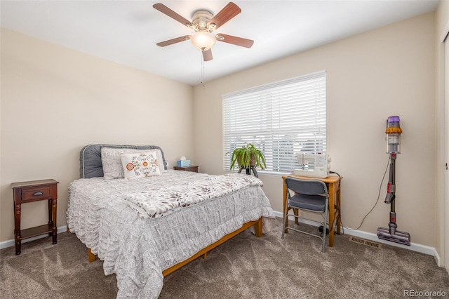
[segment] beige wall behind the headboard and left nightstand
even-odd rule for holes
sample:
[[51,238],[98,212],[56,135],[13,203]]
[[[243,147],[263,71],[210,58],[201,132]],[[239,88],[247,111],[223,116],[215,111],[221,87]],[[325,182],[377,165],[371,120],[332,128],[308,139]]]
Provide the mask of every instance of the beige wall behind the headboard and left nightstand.
[[[171,166],[194,159],[192,89],[1,29],[0,241],[13,239],[11,182],[58,180],[65,225],[84,145],[159,145]],[[22,228],[46,221],[44,201],[22,205]]]

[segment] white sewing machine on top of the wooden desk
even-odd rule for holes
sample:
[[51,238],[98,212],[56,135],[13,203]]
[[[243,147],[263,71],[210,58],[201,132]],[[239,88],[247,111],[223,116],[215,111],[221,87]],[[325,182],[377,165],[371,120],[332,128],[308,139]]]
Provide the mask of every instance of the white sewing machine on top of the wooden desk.
[[311,178],[327,178],[330,170],[328,154],[295,154],[300,168],[293,171],[294,175]]

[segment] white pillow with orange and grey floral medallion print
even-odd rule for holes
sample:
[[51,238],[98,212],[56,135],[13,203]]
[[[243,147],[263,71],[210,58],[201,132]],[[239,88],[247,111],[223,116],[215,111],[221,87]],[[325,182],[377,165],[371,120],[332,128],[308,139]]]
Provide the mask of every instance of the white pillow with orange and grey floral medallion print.
[[155,150],[120,154],[120,160],[123,166],[123,173],[128,180],[161,174]]

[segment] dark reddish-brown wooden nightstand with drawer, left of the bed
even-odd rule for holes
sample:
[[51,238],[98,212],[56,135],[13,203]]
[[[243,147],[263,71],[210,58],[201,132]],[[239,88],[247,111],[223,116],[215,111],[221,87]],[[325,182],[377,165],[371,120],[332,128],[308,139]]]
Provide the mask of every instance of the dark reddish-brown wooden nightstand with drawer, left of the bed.
[[[57,243],[56,211],[58,200],[58,182],[55,180],[32,180],[29,182],[13,182],[14,196],[14,238],[15,255],[20,254],[22,240],[48,234],[53,237],[53,244]],[[21,204],[48,200],[48,224],[20,230]]]

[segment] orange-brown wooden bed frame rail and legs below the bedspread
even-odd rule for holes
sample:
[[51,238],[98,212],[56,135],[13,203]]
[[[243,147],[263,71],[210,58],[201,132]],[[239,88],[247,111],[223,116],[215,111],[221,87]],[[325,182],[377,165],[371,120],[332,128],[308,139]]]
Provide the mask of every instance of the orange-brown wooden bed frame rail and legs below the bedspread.
[[[225,243],[225,241],[231,239],[232,237],[235,237],[237,234],[240,234],[244,230],[248,230],[248,228],[254,226],[254,231],[256,237],[262,237],[262,217],[258,220],[246,222],[242,225],[242,227],[239,228],[239,230],[235,230],[234,232],[230,232],[229,234],[225,235],[225,237],[222,237],[222,239],[216,241],[213,244],[210,244],[206,248],[201,249],[194,255],[192,255],[190,258],[187,258],[187,260],[183,260],[180,263],[177,263],[176,265],[173,265],[166,270],[163,270],[162,274],[164,277],[166,277],[168,274],[175,272],[176,270],[180,269],[181,267],[187,265],[188,263],[192,262],[192,260],[196,260],[196,258],[199,258],[201,255],[203,255],[203,258],[207,258],[208,252],[211,251],[213,248],[219,246],[220,244]],[[89,262],[92,263],[95,261],[95,254],[92,253],[91,248],[88,249],[88,259]]]

